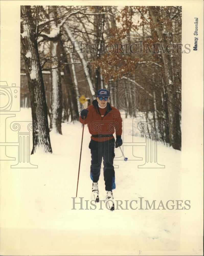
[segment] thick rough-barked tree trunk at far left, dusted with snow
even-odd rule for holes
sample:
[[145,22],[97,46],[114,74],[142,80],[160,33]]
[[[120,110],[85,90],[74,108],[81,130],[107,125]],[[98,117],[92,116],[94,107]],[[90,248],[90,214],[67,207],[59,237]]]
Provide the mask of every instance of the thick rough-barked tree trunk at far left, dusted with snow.
[[44,152],[52,153],[44,83],[30,6],[21,6],[21,19],[21,45],[28,77],[32,121],[37,124],[37,129],[33,131],[31,154],[34,154],[39,148],[42,148]]

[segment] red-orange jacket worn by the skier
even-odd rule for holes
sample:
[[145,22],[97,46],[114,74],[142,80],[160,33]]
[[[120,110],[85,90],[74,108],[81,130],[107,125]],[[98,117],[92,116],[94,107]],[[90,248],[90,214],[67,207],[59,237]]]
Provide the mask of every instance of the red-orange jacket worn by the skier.
[[[80,116],[80,122],[82,124],[88,124],[90,134],[110,135],[116,133],[116,135],[122,135],[122,118],[118,109],[107,103],[105,115],[101,117],[98,102],[94,100],[92,105],[88,106],[87,110],[87,118],[83,120]],[[91,138],[93,140],[99,140],[98,137],[91,136]],[[109,140],[110,138],[113,138],[113,136],[103,137],[103,141]]]

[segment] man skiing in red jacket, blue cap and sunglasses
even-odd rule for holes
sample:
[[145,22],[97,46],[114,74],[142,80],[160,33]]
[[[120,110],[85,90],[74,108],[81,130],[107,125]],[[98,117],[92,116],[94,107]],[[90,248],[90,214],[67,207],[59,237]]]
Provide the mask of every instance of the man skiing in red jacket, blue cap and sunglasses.
[[[90,177],[92,183],[92,194],[95,201],[99,201],[98,180],[100,176],[101,162],[104,164],[104,181],[106,199],[112,200],[112,189],[115,185],[115,170],[113,160],[115,157],[114,147],[122,145],[122,118],[118,109],[108,102],[109,91],[100,89],[97,91],[97,98],[87,109],[83,109],[80,115],[80,122],[88,124],[91,134],[89,148],[91,150]],[[116,133],[116,141],[113,134]],[[114,205],[110,207],[114,210]]]

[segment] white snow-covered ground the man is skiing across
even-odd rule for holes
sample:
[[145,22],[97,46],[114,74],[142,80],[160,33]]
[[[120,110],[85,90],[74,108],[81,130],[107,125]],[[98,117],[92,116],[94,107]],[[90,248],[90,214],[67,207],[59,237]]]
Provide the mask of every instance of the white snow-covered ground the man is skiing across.
[[[124,120],[124,129],[130,122]],[[101,205],[90,204],[88,127],[84,128],[77,198],[82,125],[79,122],[63,123],[62,133],[50,133],[52,154],[38,152],[31,156],[31,163],[37,164],[37,169],[15,170],[20,182],[20,240],[29,236],[24,250],[29,246],[36,254],[41,250],[47,255],[162,255],[164,251],[174,255],[180,248],[180,219],[184,213],[166,209],[166,202],[174,200],[168,207],[175,205],[176,208],[175,200],[183,199],[179,185],[181,152],[158,142],[158,163],[164,164],[165,168],[142,169],[138,165],[144,163],[143,146],[123,147],[127,162],[116,148],[116,189],[113,190],[116,204],[115,211],[110,211],[103,201]],[[143,142],[144,138],[134,136],[133,140]],[[124,134],[123,141],[132,141],[130,132]],[[135,156],[143,157],[143,160],[133,161]],[[105,195],[101,169],[100,200],[105,200]],[[79,204],[81,200],[82,205]],[[150,209],[145,200],[150,205],[156,200],[155,209],[152,209],[153,205]]]

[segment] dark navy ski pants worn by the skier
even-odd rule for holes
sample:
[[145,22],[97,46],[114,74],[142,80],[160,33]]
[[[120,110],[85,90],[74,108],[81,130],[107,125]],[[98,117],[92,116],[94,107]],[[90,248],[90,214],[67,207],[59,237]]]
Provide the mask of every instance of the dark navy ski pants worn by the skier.
[[98,182],[100,176],[101,163],[104,164],[105,190],[112,191],[115,185],[115,170],[113,166],[115,138],[107,141],[94,141],[91,139],[89,148],[91,150],[90,177],[93,182]]

